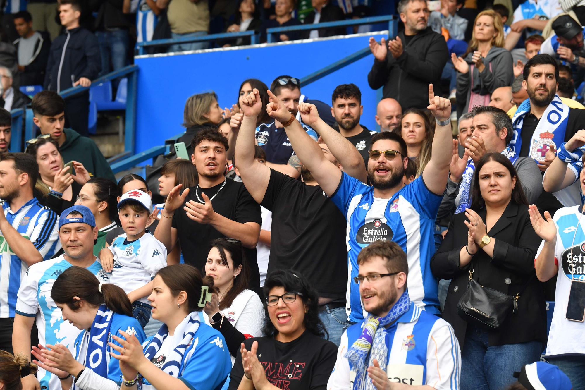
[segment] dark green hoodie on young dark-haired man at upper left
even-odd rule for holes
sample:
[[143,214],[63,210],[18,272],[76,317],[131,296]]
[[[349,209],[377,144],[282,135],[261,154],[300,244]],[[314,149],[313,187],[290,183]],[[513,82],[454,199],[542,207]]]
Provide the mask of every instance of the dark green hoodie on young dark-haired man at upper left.
[[91,138],[81,136],[71,129],[63,129],[63,133],[66,138],[59,150],[64,163],[75,160],[83,164],[92,178],[102,177],[118,183],[104,155]]

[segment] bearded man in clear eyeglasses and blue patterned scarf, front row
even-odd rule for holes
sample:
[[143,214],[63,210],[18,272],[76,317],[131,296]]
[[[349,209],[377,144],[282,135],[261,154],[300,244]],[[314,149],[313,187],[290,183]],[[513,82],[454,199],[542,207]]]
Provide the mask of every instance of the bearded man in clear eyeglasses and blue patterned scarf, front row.
[[357,264],[366,318],[343,333],[327,388],[459,389],[453,328],[409,299],[410,267],[400,245],[376,241],[362,249]]

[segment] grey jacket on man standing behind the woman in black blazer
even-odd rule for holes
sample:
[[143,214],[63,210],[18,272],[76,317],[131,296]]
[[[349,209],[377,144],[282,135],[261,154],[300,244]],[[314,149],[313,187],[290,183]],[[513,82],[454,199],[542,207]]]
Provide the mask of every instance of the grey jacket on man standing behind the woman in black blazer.
[[[518,179],[522,184],[522,189],[528,200],[528,204],[536,202],[542,193],[542,173],[538,169],[533,159],[529,157],[519,157],[514,163],[516,172],[518,173]],[[461,182],[455,183],[450,178],[447,179],[447,191],[439,206],[437,213],[437,221],[445,219],[449,221],[450,218],[455,214],[456,204],[455,198],[459,194],[459,186]],[[473,188],[473,179],[470,188]]]

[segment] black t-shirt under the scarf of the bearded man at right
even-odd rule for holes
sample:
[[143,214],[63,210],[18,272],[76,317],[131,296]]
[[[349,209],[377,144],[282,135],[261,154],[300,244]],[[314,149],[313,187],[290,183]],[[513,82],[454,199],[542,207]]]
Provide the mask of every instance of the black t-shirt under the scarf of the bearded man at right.
[[[530,112],[525,116],[524,122],[522,123],[522,131],[520,132],[520,136],[522,138],[522,147],[520,148],[519,156],[524,157],[530,155],[532,135],[536,130],[536,126],[538,126],[538,122],[539,119]],[[579,108],[569,108],[569,118],[567,118],[567,128],[565,131],[565,142],[569,141],[569,139],[577,131],[583,128],[584,122],[585,110],[580,110]],[[560,145],[556,145],[557,148],[559,146]],[[555,211],[563,207],[563,205],[552,193],[546,191],[542,191],[541,196],[539,196],[536,200],[536,206],[542,208],[542,210],[549,211],[550,215],[555,215]]]

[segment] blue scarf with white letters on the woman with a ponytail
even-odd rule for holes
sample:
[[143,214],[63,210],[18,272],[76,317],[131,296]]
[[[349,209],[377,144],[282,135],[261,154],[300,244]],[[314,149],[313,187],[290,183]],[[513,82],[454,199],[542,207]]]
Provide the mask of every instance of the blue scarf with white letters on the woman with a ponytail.
[[[110,354],[108,353],[108,341],[110,341],[110,327],[112,326],[113,311],[106,305],[98,308],[94,322],[90,328],[90,341],[87,344],[85,355],[85,366],[91,368],[100,377],[108,378],[108,364]],[[81,343],[83,337],[81,338]],[[77,346],[81,350],[81,345]]]

